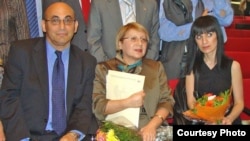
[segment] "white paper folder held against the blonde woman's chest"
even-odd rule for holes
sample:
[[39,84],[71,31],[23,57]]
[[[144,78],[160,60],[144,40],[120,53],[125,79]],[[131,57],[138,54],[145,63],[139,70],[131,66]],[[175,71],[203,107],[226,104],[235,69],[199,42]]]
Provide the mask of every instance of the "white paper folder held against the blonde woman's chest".
[[[143,90],[145,80],[145,76],[143,75],[109,70],[106,77],[107,99],[124,99],[135,92]],[[117,117],[125,117],[134,126],[138,127],[139,114],[140,108],[128,108],[123,111],[108,115],[106,120],[112,120]]]

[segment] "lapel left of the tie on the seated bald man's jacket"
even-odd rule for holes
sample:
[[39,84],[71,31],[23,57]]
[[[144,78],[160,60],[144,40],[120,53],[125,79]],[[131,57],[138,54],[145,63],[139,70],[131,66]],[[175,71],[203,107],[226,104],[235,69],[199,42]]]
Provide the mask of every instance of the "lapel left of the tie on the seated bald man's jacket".
[[40,82],[41,85],[41,91],[44,94],[46,102],[45,105],[48,106],[49,105],[48,65],[47,65],[46,45],[44,38],[41,38],[38,41],[37,45],[34,46],[32,58],[39,79],[38,81]]

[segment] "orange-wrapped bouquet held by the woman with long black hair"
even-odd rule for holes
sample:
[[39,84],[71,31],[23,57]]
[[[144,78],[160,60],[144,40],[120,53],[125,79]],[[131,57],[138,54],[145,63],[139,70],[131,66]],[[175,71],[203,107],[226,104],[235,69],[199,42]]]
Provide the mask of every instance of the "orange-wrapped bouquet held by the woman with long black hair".
[[220,123],[231,103],[231,90],[218,96],[207,93],[197,99],[194,109],[185,111],[184,116],[210,123]]

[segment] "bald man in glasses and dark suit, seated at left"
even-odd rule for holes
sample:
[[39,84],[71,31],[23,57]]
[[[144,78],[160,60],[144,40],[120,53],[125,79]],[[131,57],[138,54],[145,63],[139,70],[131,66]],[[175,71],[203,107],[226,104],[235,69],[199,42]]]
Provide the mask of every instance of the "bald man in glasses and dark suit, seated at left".
[[[68,4],[53,3],[46,9],[42,21],[45,37],[11,45],[0,95],[0,118],[7,140],[90,140],[96,59],[71,44],[78,27],[75,18]],[[64,65],[62,109],[66,114],[58,118],[66,119],[62,133],[58,133],[53,124],[55,51],[61,52]]]

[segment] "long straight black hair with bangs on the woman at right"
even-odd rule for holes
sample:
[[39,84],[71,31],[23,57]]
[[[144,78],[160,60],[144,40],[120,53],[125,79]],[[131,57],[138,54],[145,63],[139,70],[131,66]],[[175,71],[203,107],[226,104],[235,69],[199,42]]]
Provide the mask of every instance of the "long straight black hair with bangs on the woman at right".
[[201,16],[194,21],[191,27],[190,37],[187,43],[188,53],[186,74],[190,74],[192,70],[199,71],[203,62],[204,53],[199,50],[195,37],[208,32],[215,32],[217,35],[216,60],[219,69],[225,68],[228,64],[228,59],[224,54],[224,38],[219,22],[214,16]]

